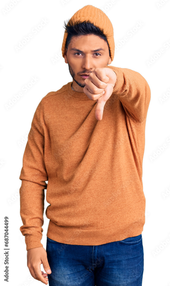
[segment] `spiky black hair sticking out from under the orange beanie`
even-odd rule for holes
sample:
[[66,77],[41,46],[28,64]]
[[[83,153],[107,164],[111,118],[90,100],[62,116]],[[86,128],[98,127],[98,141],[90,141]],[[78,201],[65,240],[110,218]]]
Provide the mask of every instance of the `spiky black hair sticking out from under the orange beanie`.
[[[104,41],[107,42],[108,44],[108,40],[107,40],[107,34],[103,32],[103,29],[95,26],[93,23],[90,22],[90,20],[87,21],[81,21],[81,20],[77,20],[77,21],[73,21],[72,19],[68,20],[68,23],[66,23],[66,21],[64,21],[64,26],[65,30],[67,31],[68,35],[67,35],[67,39],[66,39],[66,45],[65,47],[68,49],[68,45],[71,41],[71,38],[73,36],[80,36],[80,35],[89,35],[89,34],[93,34],[93,35],[97,35],[99,36],[101,39],[103,39]],[[108,44],[109,47],[109,44]],[[110,48],[109,48],[109,55],[110,55]]]

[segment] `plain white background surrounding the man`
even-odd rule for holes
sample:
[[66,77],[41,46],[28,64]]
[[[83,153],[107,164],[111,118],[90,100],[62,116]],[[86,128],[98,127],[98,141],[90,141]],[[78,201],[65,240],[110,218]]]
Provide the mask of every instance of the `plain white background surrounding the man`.
[[[14,1],[15,2],[15,1]],[[143,159],[143,190],[146,197],[146,222],[142,232],[144,274],[142,286],[170,285],[170,0],[78,1],[10,0],[0,3],[0,80],[1,80],[1,285],[41,285],[27,267],[24,236],[19,228],[19,175],[22,157],[38,103],[50,91],[72,81],[68,65],[61,55],[64,20],[83,6],[104,9],[114,28],[115,56],[111,65],[142,74],[151,88],[146,119]],[[158,5],[158,3],[162,3]],[[5,10],[8,12],[4,12]],[[42,19],[48,22],[36,34],[32,29]],[[141,27],[139,25],[141,23]],[[137,26],[136,26],[137,25]],[[137,27],[137,28],[136,28]],[[129,35],[132,29],[133,35]],[[18,51],[19,42],[33,37]],[[123,43],[124,37],[128,40]],[[122,43],[121,43],[122,42]],[[169,45],[166,45],[166,42]],[[158,52],[163,49],[163,53]],[[53,62],[53,60],[56,60]],[[151,63],[151,58],[153,62]],[[150,62],[150,64],[149,64]],[[22,88],[38,80],[26,92]],[[23,95],[14,102],[15,97]],[[166,98],[161,103],[161,98]],[[10,102],[13,102],[11,106]],[[170,142],[170,140],[169,140]],[[166,148],[159,148],[166,144]],[[164,145],[165,146],[165,145]],[[154,153],[155,152],[155,153]],[[156,154],[153,160],[151,157]],[[46,190],[45,190],[46,192]],[[163,196],[163,194],[166,194]],[[47,207],[45,201],[45,209]],[[4,281],[4,217],[9,217],[9,282]],[[42,244],[46,248],[49,220],[44,211]],[[169,240],[167,245],[163,242]],[[43,267],[41,268],[43,270]],[[104,286],[104,285],[103,285]]]

